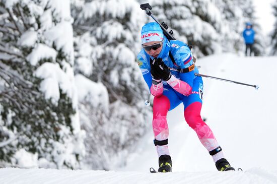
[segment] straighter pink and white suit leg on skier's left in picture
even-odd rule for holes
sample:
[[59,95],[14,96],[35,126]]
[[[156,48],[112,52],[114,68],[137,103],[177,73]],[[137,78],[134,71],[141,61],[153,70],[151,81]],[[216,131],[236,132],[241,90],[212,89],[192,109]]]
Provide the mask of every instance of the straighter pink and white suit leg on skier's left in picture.
[[[170,101],[166,96],[154,97],[152,125],[155,139],[158,141],[168,139],[169,131],[166,116],[169,109]],[[168,145],[157,145],[156,148],[159,157],[169,155]]]

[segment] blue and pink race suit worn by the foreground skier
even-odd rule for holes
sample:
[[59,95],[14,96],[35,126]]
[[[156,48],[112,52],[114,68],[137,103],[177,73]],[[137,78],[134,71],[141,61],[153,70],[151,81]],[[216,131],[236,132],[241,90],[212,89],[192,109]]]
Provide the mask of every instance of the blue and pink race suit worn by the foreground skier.
[[[169,51],[174,57],[175,64],[172,62]],[[155,139],[163,141],[168,139],[169,130],[167,124],[167,112],[177,107],[181,102],[184,104],[184,117],[189,125],[197,134],[202,145],[207,151],[212,151],[219,147],[219,144],[211,131],[200,116],[203,82],[200,76],[195,76],[198,70],[187,73],[180,73],[180,69],[187,69],[193,65],[193,58],[190,48],[181,41],[168,40],[164,38],[163,48],[158,55],[170,68],[172,77],[168,81],[162,81],[157,85],[152,83],[150,61],[152,56],[142,49],[137,55],[138,66],[141,69],[145,82],[154,95],[153,103],[153,131]],[[169,155],[168,145],[157,145],[158,156]],[[223,152],[214,155],[216,162],[223,158]]]

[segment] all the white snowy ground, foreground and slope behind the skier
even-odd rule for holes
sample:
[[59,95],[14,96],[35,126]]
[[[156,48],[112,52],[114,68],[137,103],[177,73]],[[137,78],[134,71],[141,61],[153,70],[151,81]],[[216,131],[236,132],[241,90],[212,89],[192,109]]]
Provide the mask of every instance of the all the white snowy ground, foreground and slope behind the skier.
[[[0,183],[277,183],[277,57],[234,54],[198,59],[199,73],[259,85],[260,89],[203,78],[202,117],[226,158],[243,171],[218,172],[196,134],[183,118],[183,106],[168,114],[172,173],[149,173],[158,167],[153,133],[137,143],[124,168],[115,171],[0,169]],[[151,124],[151,122],[146,122]]]

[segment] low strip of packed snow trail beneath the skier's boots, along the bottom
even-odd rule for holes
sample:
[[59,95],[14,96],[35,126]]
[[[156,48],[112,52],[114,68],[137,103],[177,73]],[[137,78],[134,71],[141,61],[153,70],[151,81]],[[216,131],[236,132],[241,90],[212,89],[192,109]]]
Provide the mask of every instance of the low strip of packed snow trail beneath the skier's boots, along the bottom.
[[171,172],[148,173],[130,171],[56,170],[56,169],[0,169],[2,184],[91,184],[91,183],[277,183],[277,173],[261,168],[229,172]]

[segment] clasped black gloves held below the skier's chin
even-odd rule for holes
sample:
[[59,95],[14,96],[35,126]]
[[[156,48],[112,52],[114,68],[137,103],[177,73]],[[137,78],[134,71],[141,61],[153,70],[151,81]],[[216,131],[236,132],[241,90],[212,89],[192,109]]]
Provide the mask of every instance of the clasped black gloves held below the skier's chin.
[[154,79],[162,79],[168,81],[171,77],[170,69],[164,64],[163,59],[158,57],[154,58],[151,65],[151,75]]

